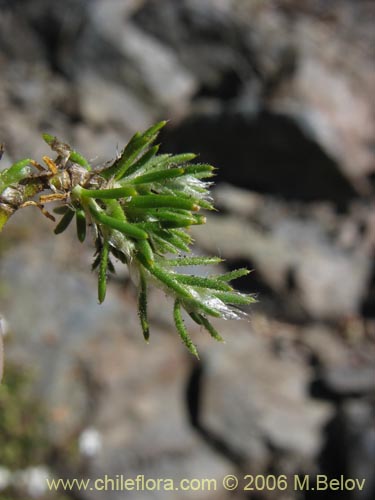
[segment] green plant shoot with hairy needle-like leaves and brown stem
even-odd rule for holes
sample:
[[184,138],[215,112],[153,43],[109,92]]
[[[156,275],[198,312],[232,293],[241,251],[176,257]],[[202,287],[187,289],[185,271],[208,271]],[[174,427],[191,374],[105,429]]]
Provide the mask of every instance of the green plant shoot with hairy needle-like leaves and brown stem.
[[214,339],[222,341],[209,318],[240,319],[244,313],[239,307],[255,299],[230,285],[231,280],[248,274],[247,269],[206,276],[177,271],[184,266],[217,265],[222,259],[189,255],[190,226],[204,224],[206,217],[200,212],[214,209],[209,194],[214,167],[192,163],[196,158],[193,153],[158,154],[154,142],[165,123],[136,133],[119,157],[102,168],[92,168],[80,153],[44,134],[56,153],[54,159],[43,157],[46,166],[31,159],[21,160],[0,173],[0,231],[16,210],[28,206],[38,207],[55,220],[45,205],[58,202],[54,212],[62,217],[56,234],[64,232],[75,219],[77,237],[83,242],[91,227],[99,302],[106,296],[108,272],[114,271],[111,259],[131,266],[146,341],[150,337],[147,294],[152,283],[173,298],[176,330],[183,344],[198,357],[184,324],[183,310]]

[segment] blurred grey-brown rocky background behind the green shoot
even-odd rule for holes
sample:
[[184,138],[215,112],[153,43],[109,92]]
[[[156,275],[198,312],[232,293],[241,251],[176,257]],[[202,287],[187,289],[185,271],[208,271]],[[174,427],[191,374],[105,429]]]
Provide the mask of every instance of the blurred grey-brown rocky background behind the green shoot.
[[[92,247],[17,213],[0,241],[1,499],[374,498],[374,21],[365,0],[0,0],[1,168],[47,154],[43,131],[100,165],[168,118],[165,151],[219,168],[196,251],[254,269],[238,286],[259,298],[217,325],[225,345],[191,325],[195,363],[162,293],[146,345],[124,270],[98,306]],[[366,487],[220,486],[317,473]],[[105,474],[218,489],[46,490]]]

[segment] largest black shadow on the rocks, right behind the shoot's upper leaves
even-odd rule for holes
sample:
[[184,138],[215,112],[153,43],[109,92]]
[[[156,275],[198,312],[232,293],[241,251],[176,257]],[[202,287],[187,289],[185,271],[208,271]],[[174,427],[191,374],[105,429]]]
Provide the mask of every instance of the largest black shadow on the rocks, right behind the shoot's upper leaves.
[[339,208],[356,197],[335,161],[292,118],[261,111],[193,115],[162,138],[165,151],[197,151],[218,167],[217,181],[289,200],[329,200]]

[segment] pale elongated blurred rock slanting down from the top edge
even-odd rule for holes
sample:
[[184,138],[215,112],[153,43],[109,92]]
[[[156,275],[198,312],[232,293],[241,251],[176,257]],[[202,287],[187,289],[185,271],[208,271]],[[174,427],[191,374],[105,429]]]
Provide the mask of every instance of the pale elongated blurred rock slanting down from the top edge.
[[[180,109],[195,91],[195,80],[171,48],[132,24],[134,8],[134,2],[95,2],[90,27],[77,41],[79,57],[91,72],[122,82],[151,107]],[[132,123],[131,115],[127,119]]]

